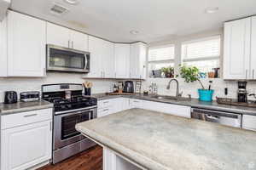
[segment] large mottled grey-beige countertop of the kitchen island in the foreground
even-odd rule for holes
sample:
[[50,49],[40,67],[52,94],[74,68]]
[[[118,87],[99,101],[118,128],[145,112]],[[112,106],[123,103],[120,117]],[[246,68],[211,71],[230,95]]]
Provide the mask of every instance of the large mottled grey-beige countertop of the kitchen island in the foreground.
[[256,133],[131,109],[76,126],[79,132],[153,170],[256,168]]

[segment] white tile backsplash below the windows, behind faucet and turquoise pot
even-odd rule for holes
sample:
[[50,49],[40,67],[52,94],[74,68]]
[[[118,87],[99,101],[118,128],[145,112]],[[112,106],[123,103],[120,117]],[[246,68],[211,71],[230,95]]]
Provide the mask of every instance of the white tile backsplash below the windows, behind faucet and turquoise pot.
[[[160,95],[176,95],[176,82],[172,82],[171,88],[168,90],[166,86],[170,81],[170,78],[148,78],[147,81],[143,82],[143,90],[148,90],[148,86],[151,83],[156,83],[158,86],[158,94]],[[179,82],[179,91],[183,92],[184,97],[188,97],[191,94],[192,98],[198,98],[197,89],[201,88],[200,82],[184,82],[182,78],[177,78]],[[201,82],[208,88],[209,81],[212,81],[211,88],[214,90],[213,99],[218,97],[235,98],[237,95],[237,82],[238,81],[224,81],[223,79],[201,79]],[[225,96],[224,88],[228,88],[228,95]],[[248,94],[256,93],[256,82],[247,82]],[[253,99],[250,97],[248,99]]]

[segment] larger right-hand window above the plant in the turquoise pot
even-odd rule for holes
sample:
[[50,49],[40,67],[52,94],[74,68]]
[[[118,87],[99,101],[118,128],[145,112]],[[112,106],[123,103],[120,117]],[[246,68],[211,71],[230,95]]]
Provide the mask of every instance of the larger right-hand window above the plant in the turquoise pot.
[[201,72],[210,72],[213,68],[219,68],[219,56],[220,36],[182,44],[183,64],[196,66]]

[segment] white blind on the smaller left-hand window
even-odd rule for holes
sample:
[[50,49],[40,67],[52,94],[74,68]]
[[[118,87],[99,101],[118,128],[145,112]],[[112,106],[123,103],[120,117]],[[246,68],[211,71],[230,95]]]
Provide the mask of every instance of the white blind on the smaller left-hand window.
[[148,50],[148,61],[174,59],[174,46]]

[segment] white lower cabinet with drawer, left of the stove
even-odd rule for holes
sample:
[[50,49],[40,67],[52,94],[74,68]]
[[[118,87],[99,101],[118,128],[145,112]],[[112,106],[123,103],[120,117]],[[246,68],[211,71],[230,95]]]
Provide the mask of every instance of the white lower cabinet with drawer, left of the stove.
[[[19,126],[14,124],[14,127],[3,125],[6,123],[4,120],[9,120],[14,115],[2,116],[1,170],[25,170],[51,159],[52,110],[42,111],[25,112],[26,115],[15,114],[23,114],[16,121],[24,124]],[[45,113],[45,111],[49,112]],[[42,114],[49,114],[50,119],[42,119],[40,116]]]

